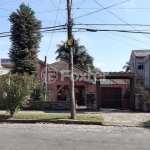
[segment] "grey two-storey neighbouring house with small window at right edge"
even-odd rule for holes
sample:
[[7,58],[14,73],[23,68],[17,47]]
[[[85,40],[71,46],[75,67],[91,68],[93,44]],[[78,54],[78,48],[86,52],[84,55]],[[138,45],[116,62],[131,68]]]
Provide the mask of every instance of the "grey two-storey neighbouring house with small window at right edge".
[[130,55],[130,71],[137,74],[136,84],[150,87],[150,50],[133,50]]

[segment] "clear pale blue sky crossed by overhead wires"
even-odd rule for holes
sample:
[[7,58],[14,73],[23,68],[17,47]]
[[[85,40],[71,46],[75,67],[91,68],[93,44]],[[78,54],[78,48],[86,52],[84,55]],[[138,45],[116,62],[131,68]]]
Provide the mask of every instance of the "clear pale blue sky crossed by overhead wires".
[[[72,0],[74,24],[125,24],[124,26],[74,25],[73,28],[150,32],[150,26],[131,25],[150,25],[150,0],[128,0],[108,8],[108,11],[101,10],[103,7],[106,8],[123,1],[125,0]],[[67,23],[67,0],[0,0],[0,32],[10,31],[9,15],[16,11],[23,2],[35,11],[35,16],[42,21],[43,28]],[[101,11],[89,14],[97,10]],[[103,72],[123,71],[122,67],[129,61],[132,50],[150,49],[150,35],[148,34],[76,31],[75,38],[80,39],[80,45],[84,45],[94,58],[95,67],[100,68]],[[67,32],[54,31],[53,33],[42,33],[42,35],[38,57],[44,60],[47,55],[48,63],[53,63],[56,61],[57,44],[67,40]],[[10,46],[9,37],[0,37],[0,58],[9,58]]]

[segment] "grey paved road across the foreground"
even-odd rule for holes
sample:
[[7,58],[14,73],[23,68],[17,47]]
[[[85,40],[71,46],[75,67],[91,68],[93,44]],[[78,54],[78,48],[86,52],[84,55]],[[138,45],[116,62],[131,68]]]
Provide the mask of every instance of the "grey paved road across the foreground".
[[149,150],[150,128],[0,124],[0,150]]

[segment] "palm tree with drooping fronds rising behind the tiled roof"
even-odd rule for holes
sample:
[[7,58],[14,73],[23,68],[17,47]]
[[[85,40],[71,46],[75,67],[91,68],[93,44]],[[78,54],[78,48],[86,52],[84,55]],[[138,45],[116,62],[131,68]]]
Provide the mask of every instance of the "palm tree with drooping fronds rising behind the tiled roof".
[[[75,40],[73,46],[73,63],[85,70],[93,69],[93,57],[90,56],[83,45],[79,45],[79,39]],[[57,45],[58,49],[56,50],[56,60],[69,60],[69,49],[66,47],[66,43],[62,42],[62,44]]]

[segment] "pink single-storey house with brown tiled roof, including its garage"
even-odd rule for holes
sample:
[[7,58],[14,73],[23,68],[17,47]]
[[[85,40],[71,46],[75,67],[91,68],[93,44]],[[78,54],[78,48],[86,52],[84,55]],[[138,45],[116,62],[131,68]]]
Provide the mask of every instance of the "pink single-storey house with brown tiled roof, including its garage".
[[[10,66],[13,65],[10,61]],[[4,63],[3,63],[4,64]],[[69,63],[65,60],[59,60],[57,62],[47,65],[45,69],[45,63],[39,60],[39,77],[41,79],[40,88],[52,95],[47,101],[53,102],[66,102],[69,94]],[[4,68],[6,69],[6,68]],[[97,90],[97,83],[94,78],[91,78],[93,74],[77,67],[73,66],[74,70],[74,92],[77,106],[85,106],[87,103],[96,103],[97,92],[101,93],[101,107],[102,108],[129,108],[130,100],[125,99],[125,93],[130,87],[129,81],[126,80],[128,73],[110,73],[113,78],[100,79],[99,90]],[[46,76],[47,73],[47,76]],[[114,77],[115,74],[115,77]],[[116,79],[116,75],[122,76],[121,79]],[[128,79],[129,80],[129,79]],[[44,86],[44,83],[46,84]],[[93,94],[93,102],[88,101],[87,94]],[[95,101],[95,102],[94,102]],[[122,101],[127,102],[126,106],[122,105]]]

